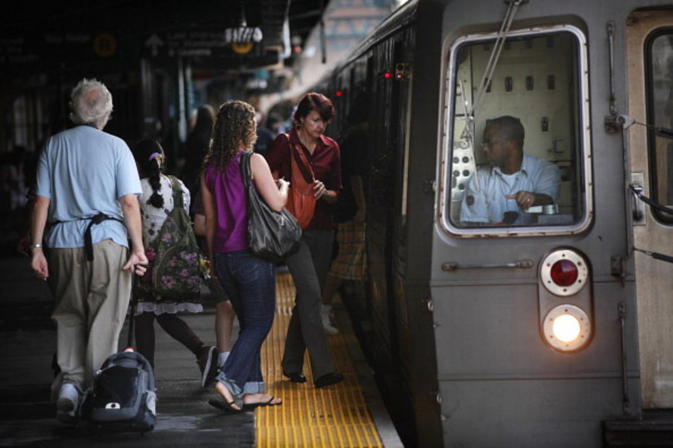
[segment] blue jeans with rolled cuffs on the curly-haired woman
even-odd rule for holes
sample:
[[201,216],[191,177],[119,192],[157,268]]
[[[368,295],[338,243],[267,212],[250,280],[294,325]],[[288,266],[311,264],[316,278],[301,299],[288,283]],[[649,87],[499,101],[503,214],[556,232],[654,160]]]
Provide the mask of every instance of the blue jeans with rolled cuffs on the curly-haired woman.
[[240,325],[236,344],[217,379],[234,397],[266,392],[260,351],[275,314],[273,263],[246,249],[216,253],[215,268]]

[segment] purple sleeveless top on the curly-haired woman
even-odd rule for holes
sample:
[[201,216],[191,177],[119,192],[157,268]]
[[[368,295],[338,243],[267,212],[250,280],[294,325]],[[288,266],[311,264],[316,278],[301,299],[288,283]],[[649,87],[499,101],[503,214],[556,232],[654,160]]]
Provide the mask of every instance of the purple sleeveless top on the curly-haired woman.
[[238,152],[233,156],[224,170],[208,165],[203,171],[216,211],[214,252],[249,248],[247,196],[240,174],[241,154]]

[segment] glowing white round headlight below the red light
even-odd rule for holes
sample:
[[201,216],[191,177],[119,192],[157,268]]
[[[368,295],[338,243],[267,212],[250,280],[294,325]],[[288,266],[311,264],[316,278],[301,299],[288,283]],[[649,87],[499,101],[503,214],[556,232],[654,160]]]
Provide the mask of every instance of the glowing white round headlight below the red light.
[[554,349],[576,351],[591,339],[591,322],[580,307],[558,305],[545,316],[543,331],[547,344]]

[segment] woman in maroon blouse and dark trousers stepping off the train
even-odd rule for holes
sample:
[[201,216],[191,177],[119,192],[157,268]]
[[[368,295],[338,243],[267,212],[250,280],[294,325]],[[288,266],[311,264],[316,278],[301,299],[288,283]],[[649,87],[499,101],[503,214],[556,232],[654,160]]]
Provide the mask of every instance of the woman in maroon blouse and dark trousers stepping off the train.
[[[295,128],[289,134],[276,137],[266,154],[273,176],[285,178],[292,185],[295,180],[290,178],[290,157],[297,156],[293,152],[302,151],[310,169],[301,166],[303,157],[296,157],[295,161],[303,174],[312,171],[315,177],[315,213],[304,228],[299,250],[286,259],[297,287],[297,296],[288,326],[282,366],[283,375],[290,381],[303,383],[306,377],[301,370],[304,351],[308,350],[313,384],[317,388],[343,380],[343,375],[334,371],[320,316],[321,290],[330,268],[334,239],[330,204],[336,202],[341,191],[339,145],[323,135],[332,117],[334,106],[330,99],[320,93],[307,93],[297,105]],[[311,182],[310,174],[304,176],[304,180]]]

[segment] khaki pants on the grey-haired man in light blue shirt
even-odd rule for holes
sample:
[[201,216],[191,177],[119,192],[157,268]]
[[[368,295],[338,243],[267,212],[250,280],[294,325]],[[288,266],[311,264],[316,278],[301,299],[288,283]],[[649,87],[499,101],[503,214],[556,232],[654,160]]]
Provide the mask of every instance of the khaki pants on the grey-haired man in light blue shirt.
[[84,248],[49,250],[49,287],[56,298],[56,357],[61,369],[52,384],[72,382],[80,390],[104,360],[117,352],[131,291],[130,272],[122,270],[128,249],[111,239],[93,245],[93,261]]

